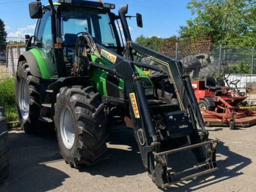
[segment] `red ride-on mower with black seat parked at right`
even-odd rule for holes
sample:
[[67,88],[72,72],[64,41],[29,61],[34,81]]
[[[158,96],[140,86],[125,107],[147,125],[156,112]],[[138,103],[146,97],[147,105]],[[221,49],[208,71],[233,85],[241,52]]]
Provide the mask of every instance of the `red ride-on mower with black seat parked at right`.
[[[256,111],[246,103],[251,87],[237,87],[240,80],[228,82],[229,74],[205,77],[204,81],[192,82],[196,99],[206,126],[248,127],[256,123]],[[235,85],[235,88],[230,87]],[[241,92],[244,90],[244,92]]]

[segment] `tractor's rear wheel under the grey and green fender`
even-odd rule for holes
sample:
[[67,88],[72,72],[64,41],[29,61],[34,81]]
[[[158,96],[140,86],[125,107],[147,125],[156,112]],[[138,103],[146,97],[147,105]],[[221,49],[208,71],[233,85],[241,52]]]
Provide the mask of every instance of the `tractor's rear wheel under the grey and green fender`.
[[40,116],[40,80],[30,72],[28,62],[21,61],[15,79],[15,100],[20,126],[28,134],[43,136],[45,129]]

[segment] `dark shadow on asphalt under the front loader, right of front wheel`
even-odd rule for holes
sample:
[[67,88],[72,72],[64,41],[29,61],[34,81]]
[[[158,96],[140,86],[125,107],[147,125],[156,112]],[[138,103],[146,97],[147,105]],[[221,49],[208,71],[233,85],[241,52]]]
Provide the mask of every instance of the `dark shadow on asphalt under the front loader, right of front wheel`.
[[[88,172],[91,175],[102,175],[104,177],[124,177],[126,175],[144,173],[145,169],[132,130],[126,127],[122,129],[112,128],[109,133],[106,158],[95,166],[84,167],[79,171]],[[124,149],[122,146],[128,147],[124,147]],[[223,142],[220,142],[217,148],[217,160],[220,156],[224,157],[225,160],[219,160],[217,162],[219,167],[218,171],[162,190],[195,191],[196,189],[204,188],[238,175],[243,175],[244,173],[240,172],[240,170],[252,163],[251,159],[230,151]],[[197,164],[196,158],[190,150],[173,154],[171,157],[169,156],[168,162],[169,165],[171,165],[170,167],[173,168],[173,171],[181,171]],[[148,182],[152,182],[149,177],[145,179],[147,179]]]

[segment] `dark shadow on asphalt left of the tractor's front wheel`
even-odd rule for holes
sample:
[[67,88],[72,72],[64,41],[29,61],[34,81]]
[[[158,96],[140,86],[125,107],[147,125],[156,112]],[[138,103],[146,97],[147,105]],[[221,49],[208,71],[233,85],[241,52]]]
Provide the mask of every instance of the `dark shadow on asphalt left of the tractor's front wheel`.
[[45,162],[62,157],[56,139],[39,138],[23,132],[9,132],[10,175],[0,184],[1,192],[45,192],[57,188],[69,176]]

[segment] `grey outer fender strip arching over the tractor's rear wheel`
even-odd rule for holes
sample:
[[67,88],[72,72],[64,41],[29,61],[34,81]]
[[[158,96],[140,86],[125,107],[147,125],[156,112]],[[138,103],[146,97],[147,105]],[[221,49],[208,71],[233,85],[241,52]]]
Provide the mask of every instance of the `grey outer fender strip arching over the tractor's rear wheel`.
[[28,66],[29,66],[31,74],[36,77],[41,77],[40,68],[38,66],[38,62],[37,62],[34,54],[29,51],[22,53],[19,57],[18,62],[25,61],[25,60],[28,62]]

